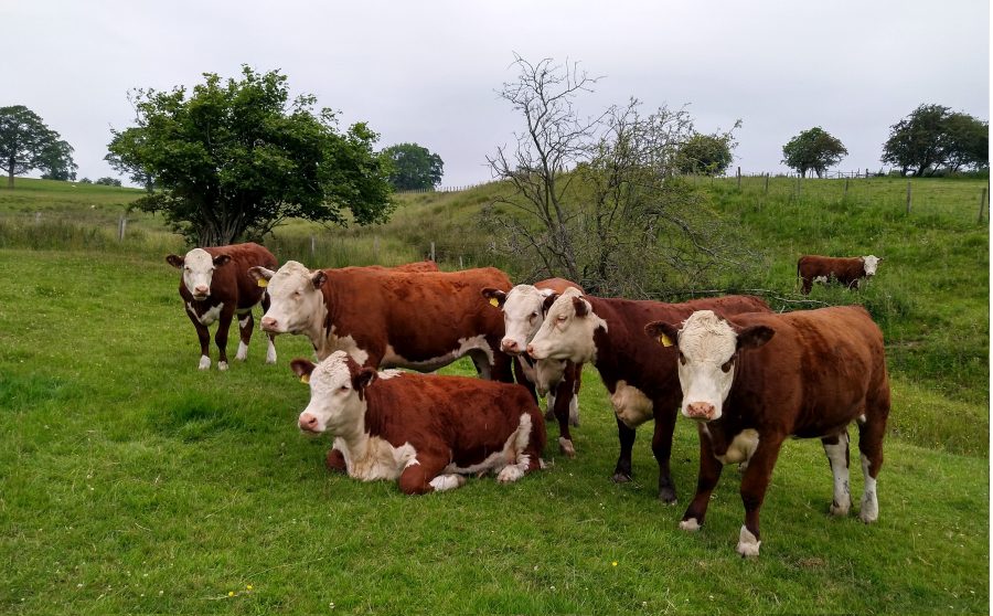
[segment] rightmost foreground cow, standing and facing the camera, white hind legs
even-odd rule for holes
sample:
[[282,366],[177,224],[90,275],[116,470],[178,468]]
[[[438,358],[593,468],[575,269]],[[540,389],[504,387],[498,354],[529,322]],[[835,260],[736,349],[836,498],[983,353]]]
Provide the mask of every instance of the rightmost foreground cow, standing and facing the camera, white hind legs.
[[876,521],[889,381],[883,332],[862,307],[726,319],[704,310],[691,315],[682,329],[670,319],[645,331],[679,348],[681,408],[698,422],[700,479],[680,528],[700,529],[724,465],[746,463],[745,525],[737,551],[757,556],[759,510],[787,437],[821,439],[834,475],[830,512],[846,516],[853,421],[865,477],[858,516],[866,523]]

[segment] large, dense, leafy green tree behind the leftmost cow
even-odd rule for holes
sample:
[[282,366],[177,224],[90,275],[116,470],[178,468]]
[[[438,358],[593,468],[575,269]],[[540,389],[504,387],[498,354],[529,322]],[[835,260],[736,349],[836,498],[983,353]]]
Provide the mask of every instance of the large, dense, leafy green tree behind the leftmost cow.
[[204,73],[188,97],[139,89],[136,126],[111,130],[113,164],[153,180],[136,201],[200,246],[259,238],[289,217],[345,225],[385,221],[387,163],[364,123],[340,134],[312,95],[289,103],[287,77],[242,67],[222,82]]

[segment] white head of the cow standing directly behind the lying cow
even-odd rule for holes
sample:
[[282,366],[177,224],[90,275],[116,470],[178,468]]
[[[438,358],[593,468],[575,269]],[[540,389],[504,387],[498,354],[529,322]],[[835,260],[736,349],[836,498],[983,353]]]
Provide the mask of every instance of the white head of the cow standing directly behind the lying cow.
[[276,272],[256,266],[248,269],[248,275],[256,280],[266,280],[269,309],[260,321],[265,331],[302,333],[312,327],[314,319],[323,322],[321,285],[328,276],[320,269],[311,272],[296,261],[288,261]]

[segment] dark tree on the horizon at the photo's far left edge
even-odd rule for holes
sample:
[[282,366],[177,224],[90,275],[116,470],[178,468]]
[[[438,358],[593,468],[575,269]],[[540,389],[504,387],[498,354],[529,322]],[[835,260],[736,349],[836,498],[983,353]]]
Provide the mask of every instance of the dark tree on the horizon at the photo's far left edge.
[[[0,107],[0,169],[7,172],[8,188],[13,188],[14,176],[32,169],[45,169],[60,148],[57,144],[58,134],[28,107]],[[67,151],[71,153],[72,148]],[[61,153],[65,152],[66,150],[62,150]],[[72,164],[72,158],[68,162]],[[72,167],[75,169],[74,164]]]

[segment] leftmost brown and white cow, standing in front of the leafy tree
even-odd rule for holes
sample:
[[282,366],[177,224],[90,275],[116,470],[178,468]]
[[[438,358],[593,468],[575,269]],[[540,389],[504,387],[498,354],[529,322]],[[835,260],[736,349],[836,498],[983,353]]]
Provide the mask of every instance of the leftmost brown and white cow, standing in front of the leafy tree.
[[[200,338],[200,369],[211,367],[211,332],[207,326],[217,322],[214,341],[220,355],[217,369],[227,370],[227,331],[234,315],[238,316],[241,342],[235,359],[244,361],[248,357],[248,341],[255,320],[252,308],[261,302],[263,311],[269,307],[268,296],[248,269],[255,266],[276,267],[276,257],[258,244],[232,244],[209,248],[193,248],[184,256],[169,255],[166,261],[183,272],[180,280],[180,297],[186,308],[186,316],[196,328]],[[266,363],[276,363],[276,347],[273,336],[268,337]]]

